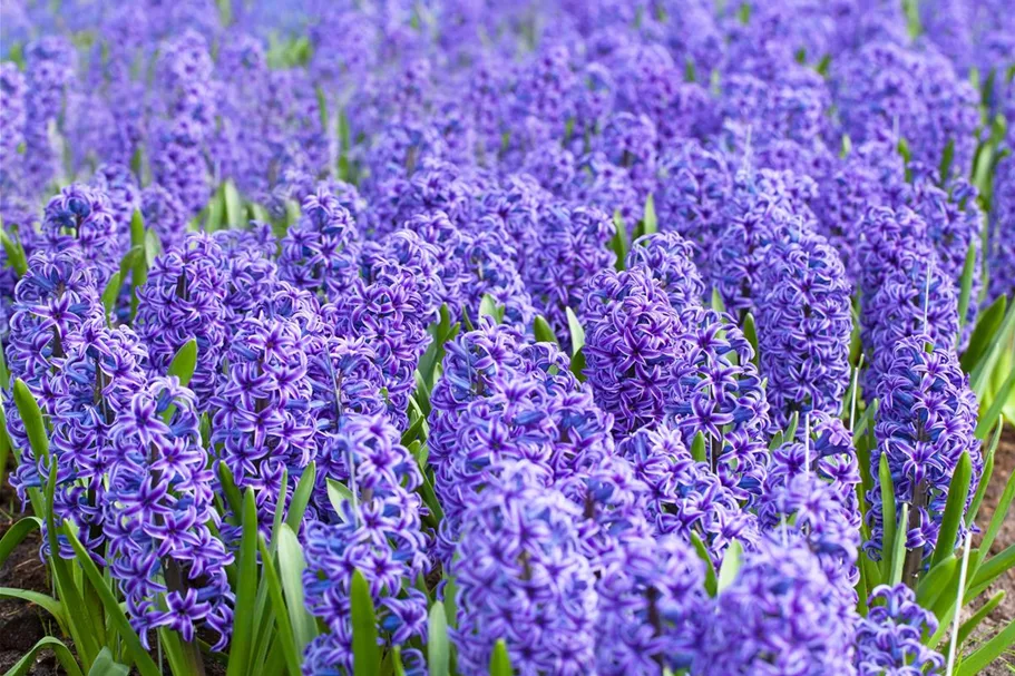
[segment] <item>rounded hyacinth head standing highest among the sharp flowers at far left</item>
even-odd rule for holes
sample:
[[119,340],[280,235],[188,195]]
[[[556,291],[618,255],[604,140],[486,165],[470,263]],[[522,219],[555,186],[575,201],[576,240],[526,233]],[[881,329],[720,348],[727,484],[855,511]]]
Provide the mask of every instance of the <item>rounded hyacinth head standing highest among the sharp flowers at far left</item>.
[[81,262],[94,267],[100,290],[119,271],[119,224],[108,196],[99,188],[76,183],[53,196],[46,205],[41,238],[48,251],[79,252]]

